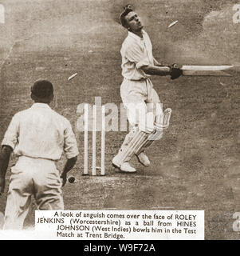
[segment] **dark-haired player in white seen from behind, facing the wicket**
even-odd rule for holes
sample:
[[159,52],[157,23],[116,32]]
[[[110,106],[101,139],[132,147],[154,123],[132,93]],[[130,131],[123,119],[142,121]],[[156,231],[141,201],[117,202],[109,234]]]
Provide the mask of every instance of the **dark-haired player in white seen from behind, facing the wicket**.
[[[70,122],[53,111],[53,85],[39,80],[31,87],[33,106],[12,118],[2,140],[0,195],[4,192],[10,154],[18,157],[11,167],[4,230],[22,230],[33,195],[39,210],[64,210],[61,186],[77,162],[77,141]],[[55,162],[68,159],[60,174]]]

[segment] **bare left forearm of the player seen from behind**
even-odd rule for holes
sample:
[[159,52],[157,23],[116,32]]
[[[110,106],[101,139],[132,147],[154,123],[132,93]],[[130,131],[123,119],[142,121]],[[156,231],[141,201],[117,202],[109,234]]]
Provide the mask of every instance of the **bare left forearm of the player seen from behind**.
[[5,189],[5,176],[6,170],[10,162],[10,155],[13,152],[13,149],[10,146],[2,146],[0,153],[0,195],[4,192]]

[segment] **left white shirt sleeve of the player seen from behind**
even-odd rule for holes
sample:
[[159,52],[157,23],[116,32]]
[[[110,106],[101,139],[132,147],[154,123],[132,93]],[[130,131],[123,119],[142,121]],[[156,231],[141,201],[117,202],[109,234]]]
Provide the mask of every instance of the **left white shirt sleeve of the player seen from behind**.
[[18,144],[19,121],[18,115],[15,114],[6,130],[6,134],[2,140],[2,146],[10,146],[14,150]]

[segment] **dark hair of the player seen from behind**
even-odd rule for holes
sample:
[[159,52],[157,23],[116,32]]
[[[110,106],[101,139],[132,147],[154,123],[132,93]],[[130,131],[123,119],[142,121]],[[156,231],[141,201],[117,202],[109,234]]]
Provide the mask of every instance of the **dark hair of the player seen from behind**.
[[31,86],[31,93],[37,98],[48,98],[53,94],[53,84],[47,80],[38,80]]

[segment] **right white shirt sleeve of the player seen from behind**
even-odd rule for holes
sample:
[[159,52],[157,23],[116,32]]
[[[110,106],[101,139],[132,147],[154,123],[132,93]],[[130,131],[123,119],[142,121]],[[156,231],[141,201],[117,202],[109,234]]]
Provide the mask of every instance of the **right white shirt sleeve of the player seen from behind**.
[[74,158],[79,154],[77,149],[77,140],[73,133],[72,126],[68,120],[65,120],[66,126],[64,131],[64,151],[68,159]]

